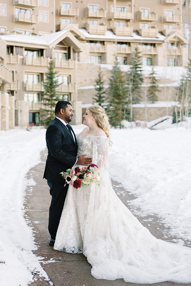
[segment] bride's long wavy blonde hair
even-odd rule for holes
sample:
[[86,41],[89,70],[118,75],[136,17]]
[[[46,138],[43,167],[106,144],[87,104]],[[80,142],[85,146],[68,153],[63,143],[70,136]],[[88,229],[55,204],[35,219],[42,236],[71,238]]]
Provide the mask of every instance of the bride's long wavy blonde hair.
[[100,105],[93,104],[86,109],[88,115],[95,116],[97,125],[103,129],[107,138],[109,138],[109,146],[112,146],[112,141],[110,140],[110,128],[109,128],[109,118],[105,113],[105,109],[102,108]]

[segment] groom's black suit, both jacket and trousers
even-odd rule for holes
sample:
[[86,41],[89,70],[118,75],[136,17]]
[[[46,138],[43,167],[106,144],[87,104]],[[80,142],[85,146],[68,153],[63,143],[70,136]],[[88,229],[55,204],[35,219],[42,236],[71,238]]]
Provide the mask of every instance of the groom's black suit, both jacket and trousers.
[[68,184],[64,187],[65,180],[60,172],[66,172],[75,164],[78,146],[68,128],[58,118],[52,120],[46,130],[46,146],[48,156],[43,178],[47,180],[52,196],[48,230],[51,238],[55,239],[68,189]]

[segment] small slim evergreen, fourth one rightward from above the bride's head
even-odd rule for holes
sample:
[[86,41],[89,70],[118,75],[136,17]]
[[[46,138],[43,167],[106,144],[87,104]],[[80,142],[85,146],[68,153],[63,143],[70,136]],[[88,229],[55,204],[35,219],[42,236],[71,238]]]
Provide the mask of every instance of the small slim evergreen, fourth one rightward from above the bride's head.
[[159,92],[159,86],[157,85],[157,79],[156,79],[156,73],[154,70],[154,65],[153,65],[153,59],[152,59],[152,70],[151,73],[149,74],[150,78],[150,86],[148,88],[148,100],[150,100],[152,103],[155,101],[158,101],[158,96],[157,92]]

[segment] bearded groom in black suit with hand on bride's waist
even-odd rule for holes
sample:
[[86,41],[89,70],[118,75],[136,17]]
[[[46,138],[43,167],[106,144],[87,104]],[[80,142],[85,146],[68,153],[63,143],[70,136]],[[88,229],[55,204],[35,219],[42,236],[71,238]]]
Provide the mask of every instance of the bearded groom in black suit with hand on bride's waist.
[[86,155],[76,157],[77,143],[76,136],[69,122],[73,116],[70,102],[60,100],[55,107],[56,118],[52,120],[46,130],[46,146],[48,156],[44,170],[44,177],[50,187],[52,196],[49,208],[48,231],[51,235],[50,246],[54,246],[56,232],[60,222],[68,184],[64,187],[65,180],[60,172],[66,172],[74,164],[89,165],[92,158],[85,158]]

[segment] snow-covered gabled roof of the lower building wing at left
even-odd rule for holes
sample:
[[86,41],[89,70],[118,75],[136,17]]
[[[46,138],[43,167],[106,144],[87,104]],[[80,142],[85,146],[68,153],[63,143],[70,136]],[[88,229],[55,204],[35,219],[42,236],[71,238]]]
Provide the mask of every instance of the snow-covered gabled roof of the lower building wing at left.
[[83,51],[82,44],[68,30],[62,30],[56,33],[51,33],[43,36],[27,36],[27,35],[1,35],[2,40],[6,42],[15,42],[21,44],[40,45],[44,48],[51,49],[60,41],[63,41],[67,46],[73,46],[76,51]]

